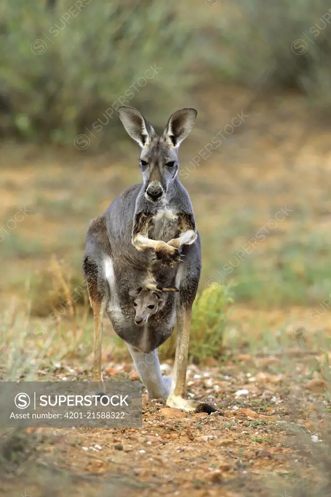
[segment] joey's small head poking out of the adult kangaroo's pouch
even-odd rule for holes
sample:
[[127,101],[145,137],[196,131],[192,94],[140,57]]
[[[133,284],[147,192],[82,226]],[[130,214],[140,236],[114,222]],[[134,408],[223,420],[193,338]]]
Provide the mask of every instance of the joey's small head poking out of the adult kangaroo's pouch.
[[164,307],[165,298],[163,298],[163,292],[177,291],[175,287],[168,287],[162,290],[147,290],[142,286],[131,290],[129,295],[134,299],[133,305],[136,310],[136,325],[147,323],[151,316],[154,316],[154,314]]

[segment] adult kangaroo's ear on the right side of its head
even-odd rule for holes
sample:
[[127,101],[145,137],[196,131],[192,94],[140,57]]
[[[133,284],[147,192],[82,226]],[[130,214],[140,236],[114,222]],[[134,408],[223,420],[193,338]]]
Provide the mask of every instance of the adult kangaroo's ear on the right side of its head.
[[176,110],[167,122],[164,138],[172,147],[179,147],[181,142],[187,137],[191,131],[197,111],[195,109],[180,109]]

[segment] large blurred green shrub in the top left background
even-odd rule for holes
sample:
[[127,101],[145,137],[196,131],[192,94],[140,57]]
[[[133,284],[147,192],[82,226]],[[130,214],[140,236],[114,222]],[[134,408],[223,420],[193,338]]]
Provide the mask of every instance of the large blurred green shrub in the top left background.
[[174,0],[3,0],[0,133],[71,144],[85,133],[99,144],[118,126],[119,105],[151,106],[153,115],[155,102],[168,112],[169,97],[191,82],[194,56],[175,8]]

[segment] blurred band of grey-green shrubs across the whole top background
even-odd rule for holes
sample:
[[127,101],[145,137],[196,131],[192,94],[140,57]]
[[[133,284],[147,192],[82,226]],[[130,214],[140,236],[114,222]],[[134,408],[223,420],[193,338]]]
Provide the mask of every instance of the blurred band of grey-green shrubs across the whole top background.
[[[134,102],[152,119],[210,78],[296,89],[328,116],[327,0],[211,3],[4,0],[0,133],[73,145],[134,83]],[[154,64],[160,74],[143,91],[137,80]],[[94,147],[109,147],[118,127],[111,118]]]

